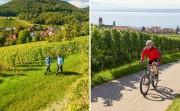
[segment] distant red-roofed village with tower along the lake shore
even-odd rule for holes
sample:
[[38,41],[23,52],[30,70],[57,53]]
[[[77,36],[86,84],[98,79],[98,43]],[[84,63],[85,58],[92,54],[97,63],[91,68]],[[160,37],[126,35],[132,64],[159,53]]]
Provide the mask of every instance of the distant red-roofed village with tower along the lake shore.
[[140,32],[147,32],[147,33],[155,33],[155,34],[180,34],[180,29],[177,26],[177,29],[173,28],[162,28],[160,26],[151,26],[151,27],[132,27],[132,26],[116,26],[115,21],[113,21],[113,25],[105,25],[103,24],[102,17],[99,18],[99,26],[103,26],[106,28],[113,28],[117,30],[134,30],[134,31],[140,31]]

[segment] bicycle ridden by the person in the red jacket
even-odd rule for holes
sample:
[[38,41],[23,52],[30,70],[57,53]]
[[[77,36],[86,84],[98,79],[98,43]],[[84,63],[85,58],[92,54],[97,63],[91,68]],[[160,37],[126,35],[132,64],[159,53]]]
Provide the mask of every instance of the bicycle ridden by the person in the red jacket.
[[[145,65],[144,63],[142,65]],[[153,88],[156,89],[156,86],[159,81],[159,75],[155,78],[154,71],[150,68],[151,64],[147,64],[145,74],[141,78],[140,82],[140,92],[142,95],[147,95],[149,91],[150,84],[152,84]]]

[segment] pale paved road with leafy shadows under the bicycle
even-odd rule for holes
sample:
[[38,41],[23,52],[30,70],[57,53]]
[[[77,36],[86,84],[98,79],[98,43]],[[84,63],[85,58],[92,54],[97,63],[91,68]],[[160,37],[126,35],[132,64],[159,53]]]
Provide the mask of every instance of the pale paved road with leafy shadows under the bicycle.
[[150,86],[147,96],[139,90],[144,71],[92,88],[92,111],[165,111],[180,94],[180,61],[159,67],[156,90]]

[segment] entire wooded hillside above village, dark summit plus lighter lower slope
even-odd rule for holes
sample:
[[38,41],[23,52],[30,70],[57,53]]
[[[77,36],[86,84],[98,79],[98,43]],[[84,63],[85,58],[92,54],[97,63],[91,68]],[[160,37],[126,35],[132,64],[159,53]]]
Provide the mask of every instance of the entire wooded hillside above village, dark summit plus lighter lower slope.
[[64,25],[89,20],[89,12],[59,0],[12,0],[0,5],[0,16],[37,24]]

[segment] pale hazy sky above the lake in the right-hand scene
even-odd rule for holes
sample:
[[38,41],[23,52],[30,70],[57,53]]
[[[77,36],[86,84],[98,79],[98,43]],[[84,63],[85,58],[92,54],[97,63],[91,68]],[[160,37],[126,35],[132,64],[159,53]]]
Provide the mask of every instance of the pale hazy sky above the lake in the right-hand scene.
[[180,8],[180,0],[91,0],[92,10],[177,8]]

